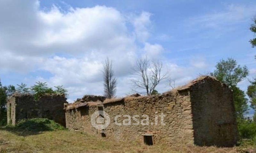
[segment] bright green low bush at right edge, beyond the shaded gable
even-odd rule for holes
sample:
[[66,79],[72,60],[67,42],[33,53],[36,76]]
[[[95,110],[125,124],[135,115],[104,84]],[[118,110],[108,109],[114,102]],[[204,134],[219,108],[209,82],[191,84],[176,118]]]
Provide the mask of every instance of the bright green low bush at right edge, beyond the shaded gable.
[[251,120],[240,120],[238,123],[238,132],[243,139],[253,139],[256,136],[256,123]]

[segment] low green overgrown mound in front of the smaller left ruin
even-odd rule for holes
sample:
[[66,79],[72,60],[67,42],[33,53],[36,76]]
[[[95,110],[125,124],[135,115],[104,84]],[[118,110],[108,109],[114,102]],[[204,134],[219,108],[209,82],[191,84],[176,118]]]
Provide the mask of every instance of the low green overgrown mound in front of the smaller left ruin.
[[20,120],[16,126],[16,130],[30,131],[30,132],[41,132],[41,131],[56,131],[64,130],[65,128],[59,123],[49,119],[34,118]]

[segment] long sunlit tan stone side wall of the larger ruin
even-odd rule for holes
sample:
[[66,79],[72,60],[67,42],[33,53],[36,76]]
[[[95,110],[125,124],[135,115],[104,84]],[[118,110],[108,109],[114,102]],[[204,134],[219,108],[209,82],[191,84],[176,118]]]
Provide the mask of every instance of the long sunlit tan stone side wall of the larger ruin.
[[[154,143],[167,145],[193,144],[192,116],[190,98],[187,92],[168,92],[163,95],[146,97],[125,97],[120,99],[107,99],[104,103],[89,102],[85,106],[79,104],[79,99],[74,104],[69,104],[66,110],[66,125],[70,130],[100,134],[104,132],[107,137],[116,140],[142,142],[143,134],[152,134]],[[81,106],[76,108],[76,106]],[[110,117],[109,126],[104,131],[97,130],[91,125],[91,115],[98,111],[98,106],[104,106],[104,111]],[[66,106],[66,108],[68,108]],[[161,125],[158,117],[156,125],[155,116],[164,113],[165,125]],[[149,125],[143,126],[118,126],[114,123],[116,115],[139,115],[138,120],[149,117]],[[122,116],[118,122],[127,119]],[[131,120],[133,121],[133,120]],[[154,125],[150,125],[153,123]]]

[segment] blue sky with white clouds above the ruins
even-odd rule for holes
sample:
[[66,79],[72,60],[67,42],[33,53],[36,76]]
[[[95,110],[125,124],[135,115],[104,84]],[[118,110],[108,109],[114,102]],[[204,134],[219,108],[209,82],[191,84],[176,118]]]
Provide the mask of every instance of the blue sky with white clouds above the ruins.
[[[103,94],[102,62],[109,57],[117,97],[132,93],[132,68],[147,56],[183,85],[232,57],[256,76],[249,30],[255,0],[0,0],[0,79],[63,85],[68,101]],[[167,80],[158,92],[171,88]]]

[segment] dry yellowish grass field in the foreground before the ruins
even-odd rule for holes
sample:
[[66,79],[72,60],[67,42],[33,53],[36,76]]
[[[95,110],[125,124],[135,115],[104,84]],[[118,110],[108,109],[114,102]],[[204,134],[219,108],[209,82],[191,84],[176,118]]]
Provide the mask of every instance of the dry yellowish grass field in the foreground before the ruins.
[[[116,142],[94,135],[81,134],[68,130],[42,132],[26,137],[0,129],[0,153],[238,153],[253,151],[249,148],[217,148],[217,147],[167,147],[162,145],[140,145],[138,142]],[[254,150],[255,151],[255,150]]]

